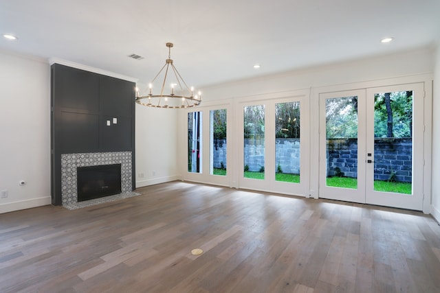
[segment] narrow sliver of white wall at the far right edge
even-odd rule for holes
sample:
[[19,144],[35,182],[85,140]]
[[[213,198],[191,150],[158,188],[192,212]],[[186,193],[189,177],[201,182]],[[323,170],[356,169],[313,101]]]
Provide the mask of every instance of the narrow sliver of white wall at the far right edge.
[[434,61],[434,97],[432,101],[432,215],[440,222],[440,45]]

